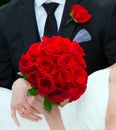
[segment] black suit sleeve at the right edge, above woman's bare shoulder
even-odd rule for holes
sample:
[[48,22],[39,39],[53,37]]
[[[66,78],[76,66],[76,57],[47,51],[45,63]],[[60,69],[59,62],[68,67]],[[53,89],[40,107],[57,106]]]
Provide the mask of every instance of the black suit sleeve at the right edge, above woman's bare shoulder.
[[109,14],[104,41],[104,53],[111,65],[116,63],[116,0],[112,0],[111,8],[108,10]]

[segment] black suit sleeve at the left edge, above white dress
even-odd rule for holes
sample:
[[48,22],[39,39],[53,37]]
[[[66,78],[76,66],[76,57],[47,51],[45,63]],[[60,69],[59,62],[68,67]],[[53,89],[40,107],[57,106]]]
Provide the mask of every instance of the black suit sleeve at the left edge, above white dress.
[[0,87],[11,89],[14,77],[8,46],[0,34]]

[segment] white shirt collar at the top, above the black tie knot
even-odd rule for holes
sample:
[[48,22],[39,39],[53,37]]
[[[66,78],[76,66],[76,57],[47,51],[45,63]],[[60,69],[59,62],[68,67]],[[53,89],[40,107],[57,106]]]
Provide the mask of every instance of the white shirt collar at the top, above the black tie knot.
[[39,8],[43,3],[55,2],[64,5],[66,0],[35,0],[35,5]]

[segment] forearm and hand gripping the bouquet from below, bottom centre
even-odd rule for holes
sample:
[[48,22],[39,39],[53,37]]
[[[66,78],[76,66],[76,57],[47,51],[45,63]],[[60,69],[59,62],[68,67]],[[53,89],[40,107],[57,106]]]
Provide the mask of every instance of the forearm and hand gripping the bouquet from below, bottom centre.
[[28,100],[28,102],[44,115],[50,130],[65,130],[59,108],[54,105],[52,111],[47,112],[43,108],[44,98],[40,95],[33,98],[33,100],[30,98],[31,101]]

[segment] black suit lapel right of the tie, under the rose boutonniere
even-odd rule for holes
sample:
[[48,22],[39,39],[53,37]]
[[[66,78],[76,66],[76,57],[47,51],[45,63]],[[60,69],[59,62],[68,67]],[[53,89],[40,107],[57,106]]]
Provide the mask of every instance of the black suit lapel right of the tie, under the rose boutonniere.
[[63,36],[63,37],[68,37],[71,40],[73,39],[73,33],[75,30],[75,27],[77,26],[77,24],[75,24],[75,22],[69,22],[67,25],[66,23],[70,20],[70,9],[71,6],[74,4],[78,4],[79,2],[81,2],[82,0],[66,0],[66,4],[64,7],[64,13],[62,16],[62,21],[61,21],[61,25],[60,25],[60,30],[59,30],[59,35]]

